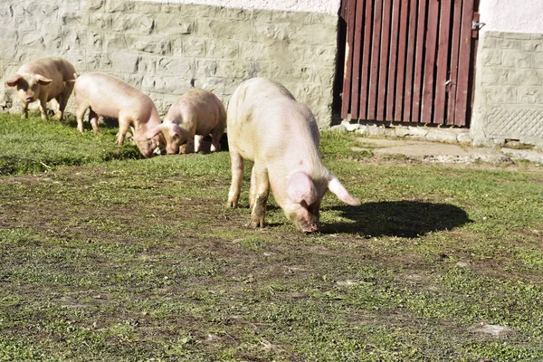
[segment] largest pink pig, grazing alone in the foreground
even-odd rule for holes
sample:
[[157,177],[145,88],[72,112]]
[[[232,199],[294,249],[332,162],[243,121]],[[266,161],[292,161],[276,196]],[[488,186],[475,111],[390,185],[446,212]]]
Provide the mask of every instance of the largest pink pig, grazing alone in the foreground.
[[310,109],[275,81],[253,78],[233,92],[228,147],[232,161],[228,206],[238,205],[243,159],[254,163],[249,191],[252,227],[264,225],[270,186],[275,201],[305,233],[319,230],[320,201],[327,190],[348,205],[360,205],[322,165],[319,129]]

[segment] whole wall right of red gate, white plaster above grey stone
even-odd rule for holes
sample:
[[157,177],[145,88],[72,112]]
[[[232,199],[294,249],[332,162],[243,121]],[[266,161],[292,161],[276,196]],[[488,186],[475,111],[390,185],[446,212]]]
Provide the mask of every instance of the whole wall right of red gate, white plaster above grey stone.
[[543,2],[482,0],[480,10],[473,142],[543,148]]

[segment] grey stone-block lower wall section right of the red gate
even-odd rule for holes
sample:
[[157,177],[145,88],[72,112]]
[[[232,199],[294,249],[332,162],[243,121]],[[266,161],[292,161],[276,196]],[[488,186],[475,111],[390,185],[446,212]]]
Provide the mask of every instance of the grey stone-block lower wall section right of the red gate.
[[486,32],[479,48],[473,142],[543,147],[543,33]]

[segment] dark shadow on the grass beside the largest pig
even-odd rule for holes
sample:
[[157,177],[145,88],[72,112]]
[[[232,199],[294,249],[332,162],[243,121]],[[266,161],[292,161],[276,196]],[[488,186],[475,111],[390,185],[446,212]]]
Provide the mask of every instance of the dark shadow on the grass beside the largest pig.
[[426,233],[452,230],[472,223],[460,207],[417,201],[362,203],[359,206],[332,206],[352,222],[322,223],[321,233],[358,233],[366,237],[398,236],[417,238]]

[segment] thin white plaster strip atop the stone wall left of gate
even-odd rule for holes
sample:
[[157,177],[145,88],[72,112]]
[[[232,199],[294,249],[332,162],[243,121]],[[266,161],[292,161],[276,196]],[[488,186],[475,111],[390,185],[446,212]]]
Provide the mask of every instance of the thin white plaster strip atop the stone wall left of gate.
[[240,9],[264,9],[338,14],[340,0],[136,0],[164,4],[200,4]]

